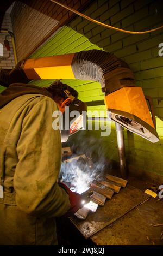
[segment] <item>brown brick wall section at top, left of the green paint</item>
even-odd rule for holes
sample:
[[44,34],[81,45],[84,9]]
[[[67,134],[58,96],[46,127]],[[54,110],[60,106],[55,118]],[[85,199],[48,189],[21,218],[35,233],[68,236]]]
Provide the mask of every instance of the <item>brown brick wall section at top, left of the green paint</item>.
[[[83,10],[90,0],[64,0],[62,3]],[[18,61],[27,58],[50,35],[73,17],[73,13],[49,0],[16,1],[11,11]]]

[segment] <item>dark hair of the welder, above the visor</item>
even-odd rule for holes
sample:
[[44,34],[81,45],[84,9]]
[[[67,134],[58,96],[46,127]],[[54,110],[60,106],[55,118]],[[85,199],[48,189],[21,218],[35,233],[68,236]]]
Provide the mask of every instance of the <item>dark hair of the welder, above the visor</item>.
[[78,98],[78,92],[71,88],[69,85],[63,84],[60,80],[54,81],[49,87],[46,88],[55,102],[59,103],[61,99],[66,99],[65,90],[68,90],[72,96]]

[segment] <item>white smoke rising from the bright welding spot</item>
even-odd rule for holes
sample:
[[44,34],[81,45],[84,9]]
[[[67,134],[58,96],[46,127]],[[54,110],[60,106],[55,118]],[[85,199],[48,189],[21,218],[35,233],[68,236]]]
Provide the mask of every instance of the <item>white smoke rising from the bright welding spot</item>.
[[[71,144],[72,150],[76,152],[76,155],[72,157],[85,154],[89,158],[80,157],[72,162],[62,162],[60,180],[73,192],[81,194],[88,190],[90,184],[98,180],[104,171],[108,172],[111,166],[104,156],[104,151],[107,148],[104,148],[101,137],[90,135],[87,137],[84,132],[79,132],[76,139],[72,138]],[[108,147],[108,145],[106,146]],[[90,166],[89,159],[92,159],[92,166]]]

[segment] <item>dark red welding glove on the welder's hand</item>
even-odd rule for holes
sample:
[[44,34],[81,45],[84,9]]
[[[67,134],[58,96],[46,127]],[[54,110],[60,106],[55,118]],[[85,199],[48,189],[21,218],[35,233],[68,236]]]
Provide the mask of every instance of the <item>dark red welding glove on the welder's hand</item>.
[[70,216],[73,215],[74,213],[76,213],[80,208],[83,207],[82,204],[82,197],[80,194],[76,193],[76,192],[72,192],[70,190],[70,188],[68,188],[64,183],[58,183],[59,186],[63,189],[65,189],[65,191],[67,192],[67,194],[69,195],[69,200],[70,200],[70,204],[71,207],[68,210],[68,212],[66,213],[66,216]]

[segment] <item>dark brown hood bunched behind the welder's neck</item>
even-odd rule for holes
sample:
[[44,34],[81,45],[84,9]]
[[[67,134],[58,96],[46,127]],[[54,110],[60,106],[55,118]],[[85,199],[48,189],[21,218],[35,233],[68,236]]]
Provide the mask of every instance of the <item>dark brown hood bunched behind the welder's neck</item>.
[[49,93],[46,88],[22,83],[11,84],[0,93],[0,109],[11,102],[11,100],[24,94],[41,94],[52,98],[51,93]]

